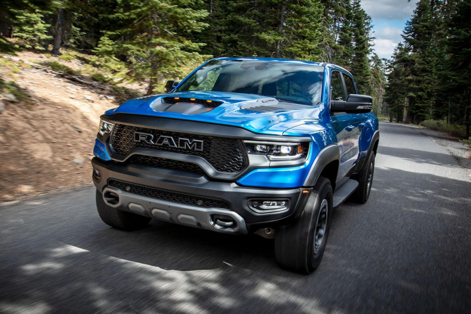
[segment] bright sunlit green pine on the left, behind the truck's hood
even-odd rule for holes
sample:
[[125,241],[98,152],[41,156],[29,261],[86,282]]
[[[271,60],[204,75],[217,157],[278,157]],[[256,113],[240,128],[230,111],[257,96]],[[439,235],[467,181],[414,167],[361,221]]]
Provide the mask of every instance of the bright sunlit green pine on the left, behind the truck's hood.
[[[157,82],[167,76],[181,74],[181,65],[190,60],[203,61],[197,51],[202,45],[183,35],[201,31],[208,24],[201,22],[208,12],[187,7],[191,0],[131,0],[120,5],[110,17],[117,23],[107,31],[95,50],[101,56],[124,56],[131,63],[129,75],[149,82],[147,94],[154,92]],[[114,41],[109,47],[104,41]],[[106,48],[104,48],[106,47]]]

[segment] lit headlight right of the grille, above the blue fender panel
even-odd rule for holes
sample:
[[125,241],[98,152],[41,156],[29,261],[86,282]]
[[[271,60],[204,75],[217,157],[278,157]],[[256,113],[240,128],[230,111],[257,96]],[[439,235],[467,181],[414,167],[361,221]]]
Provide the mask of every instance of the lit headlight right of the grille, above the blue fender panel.
[[[303,156],[302,143],[244,141],[247,152],[250,154],[263,154],[270,160],[296,159]],[[306,152],[307,153],[307,152]]]

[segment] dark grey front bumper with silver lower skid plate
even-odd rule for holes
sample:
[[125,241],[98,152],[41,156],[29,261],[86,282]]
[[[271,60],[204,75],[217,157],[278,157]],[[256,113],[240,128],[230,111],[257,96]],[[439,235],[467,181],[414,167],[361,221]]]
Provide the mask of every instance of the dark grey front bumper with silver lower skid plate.
[[[102,194],[113,192],[118,195],[119,202],[113,207],[218,232],[245,234],[260,228],[289,224],[300,214],[309,195],[306,191],[302,193],[302,190],[306,190],[305,188],[246,187],[231,182],[209,181],[206,176],[197,174],[166,169],[158,169],[157,172],[156,168],[152,167],[102,161],[96,157],[92,159],[92,165],[101,173],[98,181],[97,178],[93,180],[97,189]],[[143,188],[164,190],[169,194],[180,193],[193,198],[224,201],[229,204],[229,209],[203,208],[182,204],[178,199],[169,202],[151,198],[148,195],[129,193],[126,190],[109,186],[110,180],[136,184]],[[282,211],[260,213],[250,208],[249,200],[251,199],[286,199],[288,205]],[[216,223],[217,218],[228,220],[225,217],[234,221],[235,225],[224,227]]]

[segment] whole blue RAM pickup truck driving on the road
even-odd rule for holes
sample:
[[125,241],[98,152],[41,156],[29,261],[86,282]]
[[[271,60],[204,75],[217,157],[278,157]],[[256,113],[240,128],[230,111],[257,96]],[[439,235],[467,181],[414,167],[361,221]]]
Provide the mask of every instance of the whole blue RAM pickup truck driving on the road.
[[371,97],[342,67],[275,58],[211,59],[165,88],[101,116],[92,177],[102,220],[256,233],[274,238],[282,267],[312,272],[332,210],[368,200]]

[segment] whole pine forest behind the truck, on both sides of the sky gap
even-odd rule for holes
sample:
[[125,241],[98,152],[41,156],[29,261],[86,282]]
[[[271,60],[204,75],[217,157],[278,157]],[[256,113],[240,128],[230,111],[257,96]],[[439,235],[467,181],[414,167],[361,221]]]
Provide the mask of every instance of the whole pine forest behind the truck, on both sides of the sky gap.
[[469,138],[470,8],[420,0],[386,60],[361,0],[3,0],[0,51],[85,52],[111,74],[126,69],[121,79],[145,82],[148,95],[210,57],[335,63],[377,115]]

